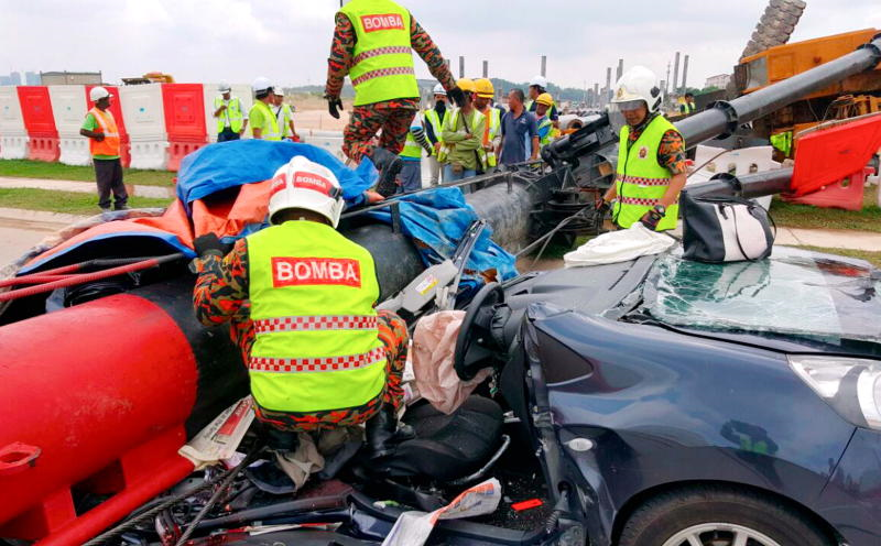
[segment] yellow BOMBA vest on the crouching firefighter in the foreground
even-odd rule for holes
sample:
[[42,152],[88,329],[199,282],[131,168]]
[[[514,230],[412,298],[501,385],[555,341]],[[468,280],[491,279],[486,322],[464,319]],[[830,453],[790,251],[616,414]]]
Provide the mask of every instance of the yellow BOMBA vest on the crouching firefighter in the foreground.
[[255,339],[251,393],[263,408],[362,406],[385,385],[373,256],[324,223],[294,220],[248,236]]

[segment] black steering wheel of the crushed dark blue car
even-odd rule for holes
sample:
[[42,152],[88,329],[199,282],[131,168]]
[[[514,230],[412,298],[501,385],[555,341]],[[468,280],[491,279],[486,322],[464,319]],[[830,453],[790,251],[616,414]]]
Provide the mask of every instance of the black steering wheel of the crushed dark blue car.
[[496,306],[504,303],[504,291],[499,283],[489,283],[475,295],[456,338],[453,365],[463,381],[470,381],[492,357],[496,343],[490,326]]

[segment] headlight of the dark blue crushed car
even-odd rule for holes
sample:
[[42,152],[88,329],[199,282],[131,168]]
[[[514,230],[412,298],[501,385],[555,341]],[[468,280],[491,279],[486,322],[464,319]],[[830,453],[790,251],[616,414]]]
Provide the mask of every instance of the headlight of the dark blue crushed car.
[[844,418],[881,430],[881,362],[790,356],[793,371]]

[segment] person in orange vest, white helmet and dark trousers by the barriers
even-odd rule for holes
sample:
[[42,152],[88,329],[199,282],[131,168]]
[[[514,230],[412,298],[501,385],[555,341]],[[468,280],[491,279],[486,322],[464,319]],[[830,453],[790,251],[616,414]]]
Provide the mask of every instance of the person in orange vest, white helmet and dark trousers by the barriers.
[[129,194],[122,184],[122,162],[119,129],[110,111],[110,91],[94,87],[89,99],[95,107],[86,114],[79,134],[88,136],[91,163],[95,165],[95,179],[98,183],[98,206],[102,212],[110,211],[110,193],[117,210],[127,210]]

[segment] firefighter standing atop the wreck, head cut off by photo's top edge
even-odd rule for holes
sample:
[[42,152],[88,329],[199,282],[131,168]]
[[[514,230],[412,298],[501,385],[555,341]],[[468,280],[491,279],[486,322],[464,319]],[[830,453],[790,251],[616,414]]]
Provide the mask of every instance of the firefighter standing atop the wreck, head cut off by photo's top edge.
[[[387,196],[396,189],[394,181],[402,167],[398,154],[420,107],[413,50],[458,102],[461,92],[440,51],[405,8],[392,0],[351,0],[336,15],[327,59],[328,110],[339,118],[339,96],[348,75],[355,105],[342,133],[342,152],[355,163],[369,157],[380,171],[377,190]],[[378,133],[379,146],[374,146],[371,141]]]

